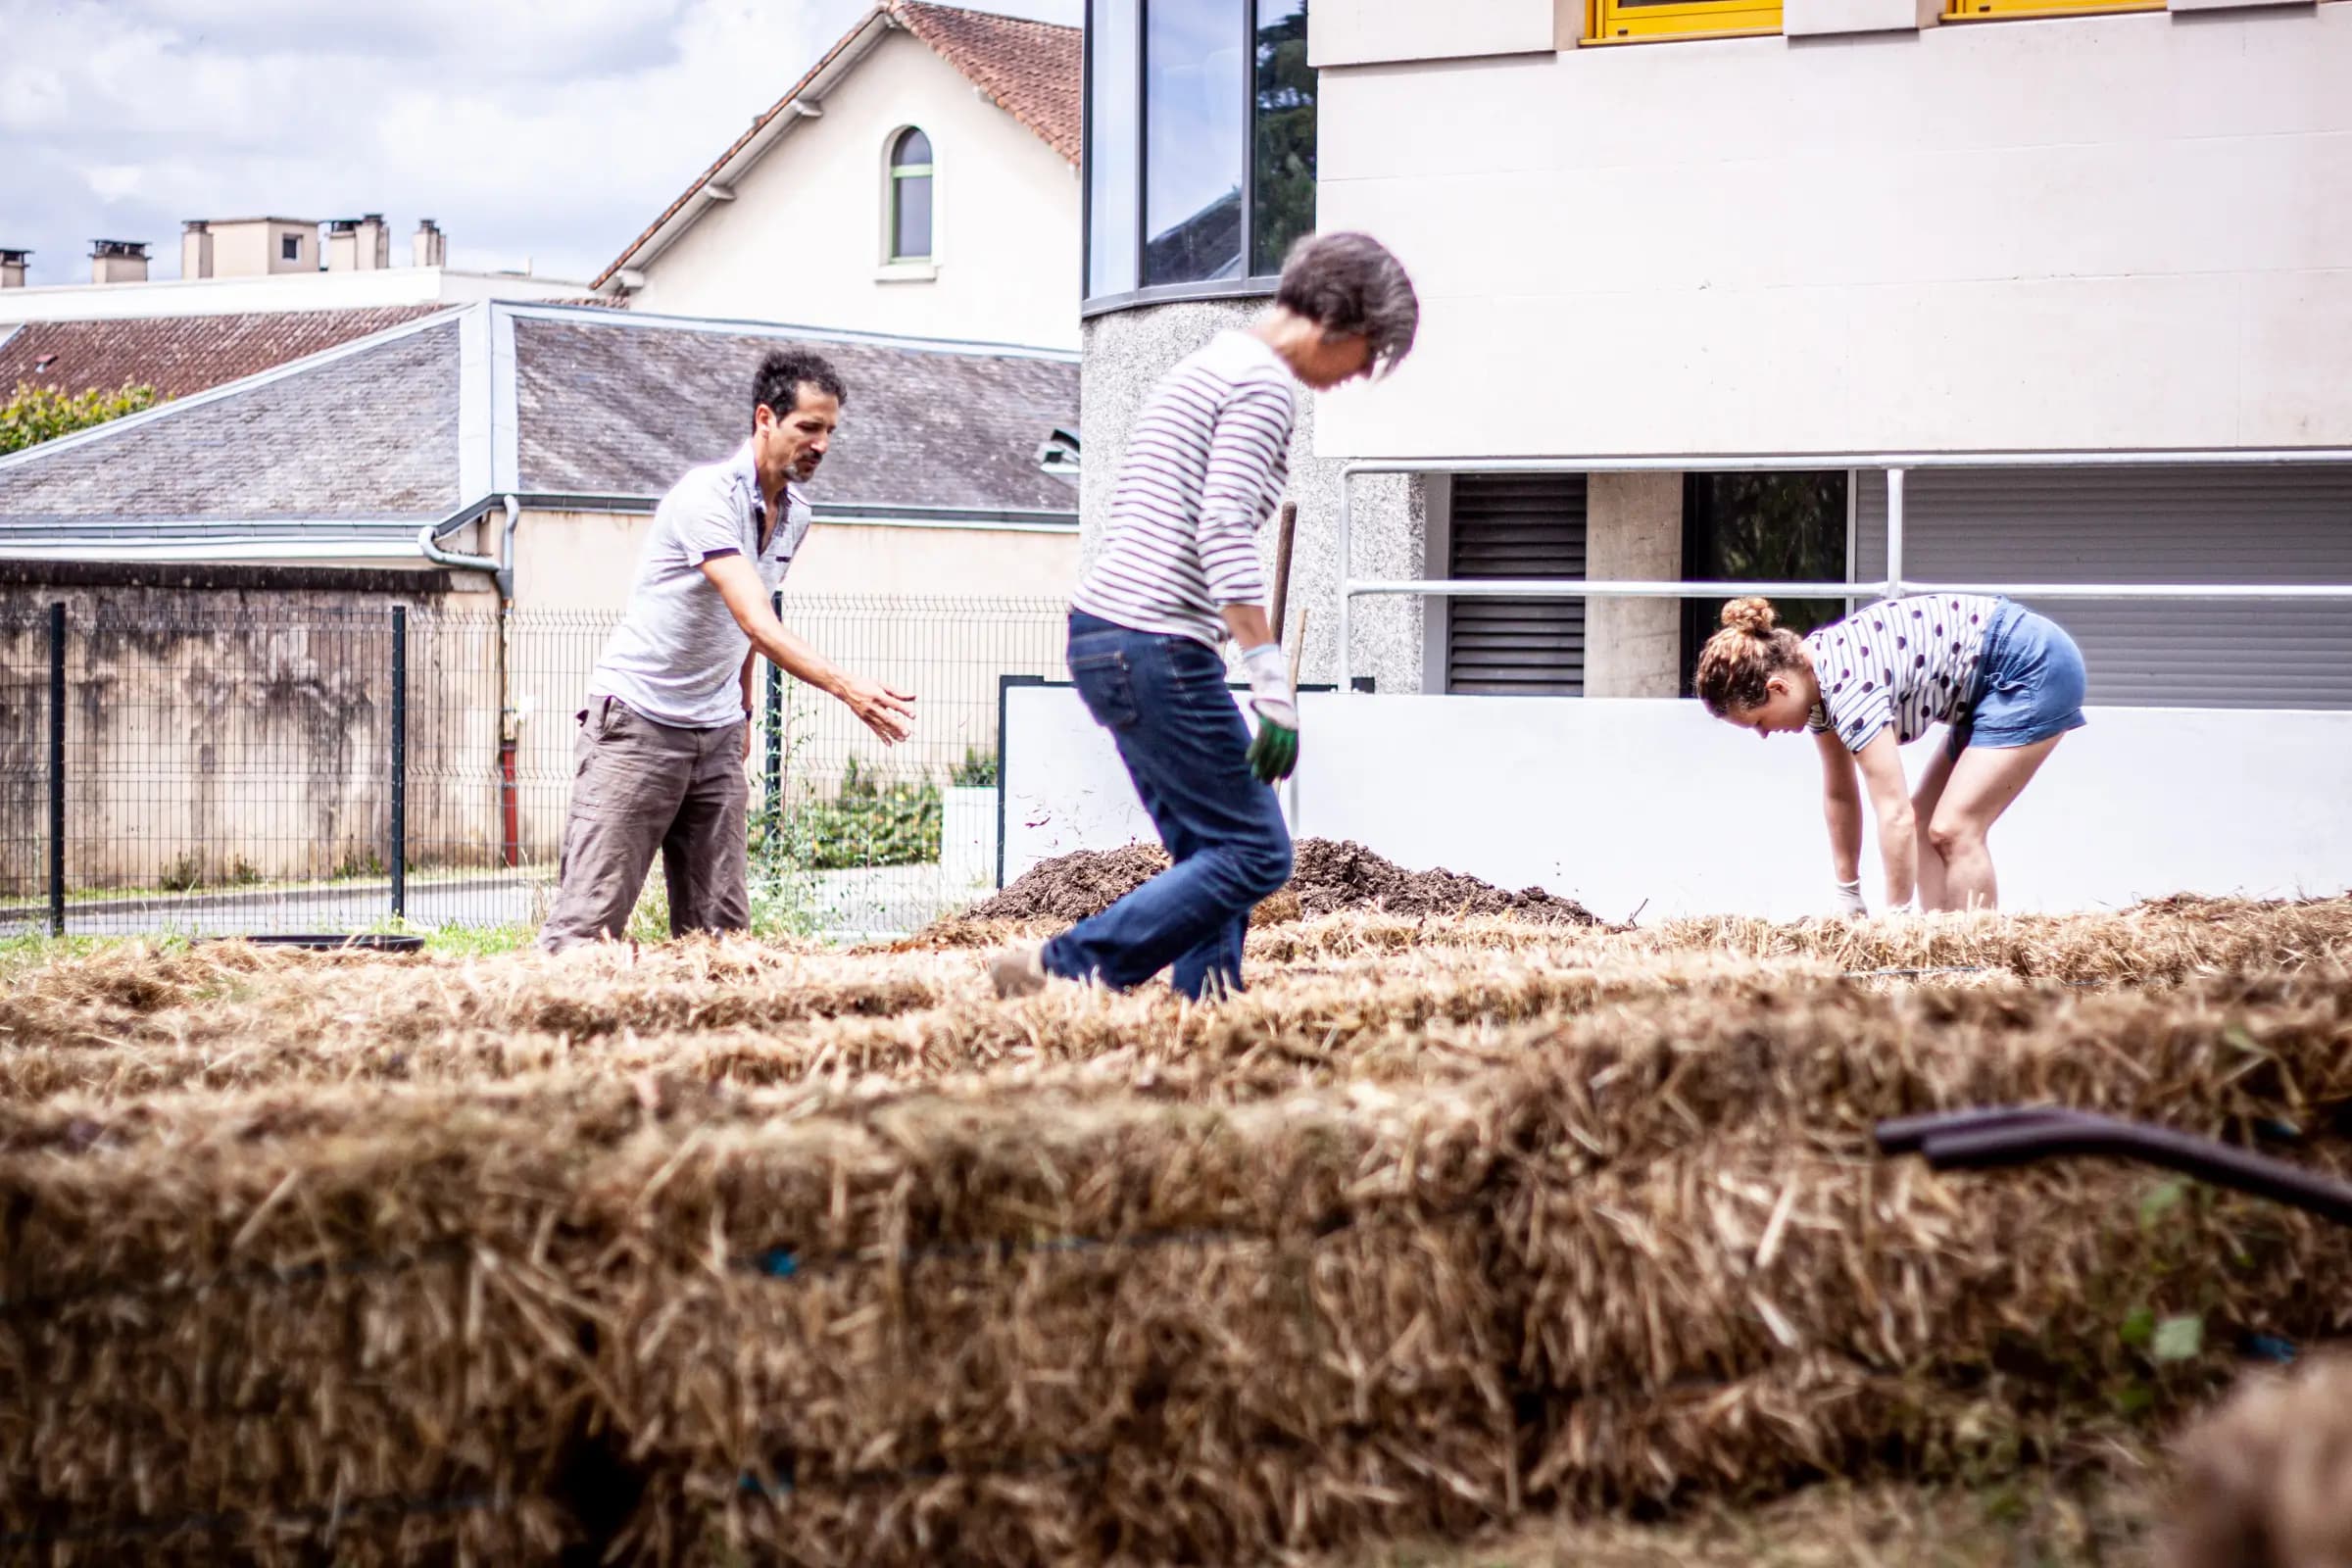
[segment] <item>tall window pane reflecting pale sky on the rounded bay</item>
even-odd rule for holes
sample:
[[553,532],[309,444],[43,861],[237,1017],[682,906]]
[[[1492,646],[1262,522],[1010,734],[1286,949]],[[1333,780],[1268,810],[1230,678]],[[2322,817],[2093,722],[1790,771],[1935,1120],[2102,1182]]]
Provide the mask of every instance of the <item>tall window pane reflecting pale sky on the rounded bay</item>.
[[1242,0],[1143,7],[1143,282],[1242,275]]

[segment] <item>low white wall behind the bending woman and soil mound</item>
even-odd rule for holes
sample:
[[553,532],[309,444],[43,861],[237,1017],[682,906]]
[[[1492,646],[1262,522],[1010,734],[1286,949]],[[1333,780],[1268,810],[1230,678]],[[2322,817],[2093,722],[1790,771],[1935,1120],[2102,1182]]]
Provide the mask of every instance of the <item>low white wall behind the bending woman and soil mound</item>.
[[[2093,708],[1992,835],[2002,905],[2086,910],[2161,893],[2352,889],[2352,712]],[[1301,698],[1298,835],[1409,867],[1543,884],[1595,914],[1823,912],[1820,766],[1684,701]],[[1917,778],[1926,748],[1905,766]],[[1014,689],[1007,877],[1150,839],[1110,738],[1065,686]],[[1863,889],[1882,900],[1877,851]]]

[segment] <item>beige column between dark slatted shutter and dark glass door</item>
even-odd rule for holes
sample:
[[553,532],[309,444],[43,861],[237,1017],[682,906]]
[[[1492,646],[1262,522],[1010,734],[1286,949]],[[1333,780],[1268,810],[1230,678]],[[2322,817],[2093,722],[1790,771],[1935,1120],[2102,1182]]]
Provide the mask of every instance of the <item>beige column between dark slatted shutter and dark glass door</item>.
[[[1682,576],[1682,475],[1597,473],[1585,487],[1585,576]],[[1679,696],[1682,602],[1588,599],[1585,696]]]

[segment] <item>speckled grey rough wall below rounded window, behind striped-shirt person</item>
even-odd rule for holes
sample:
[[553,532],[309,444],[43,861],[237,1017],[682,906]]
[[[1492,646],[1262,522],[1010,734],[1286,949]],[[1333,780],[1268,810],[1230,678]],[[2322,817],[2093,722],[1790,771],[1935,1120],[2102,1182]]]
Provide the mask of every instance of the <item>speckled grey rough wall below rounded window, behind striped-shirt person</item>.
[[[1120,458],[1152,386],[1181,357],[1228,327],[1247,327],[1261,301],[1190,301],[1143,306],[1087,322],[1080,371],[1080,423],[1087,430],[1087,468],[1080,510],[1091,552],[1110,522]],[[1317,397],[1298,393],[1298,428],[1291,435],[1291,482],[1298,503],[1298,543],[1291,557],[1291,625],[1308,614],[1303,682],[1327,682],[1338,670],[1338,463],[1317,456],[1317,428],[1336,409],[1367,395],[1341,388]],[[1355,484],[1355,574],[1421,576],[1423,489],[1418,480],[1371,475]],[[1272,583],[1275,524],[1258,534]],[[1421,602],[1359,599],[1355,607],[1355,672],[1381,691],[1421,691]],[[1284,635],[1289,644],[1289,635]]]

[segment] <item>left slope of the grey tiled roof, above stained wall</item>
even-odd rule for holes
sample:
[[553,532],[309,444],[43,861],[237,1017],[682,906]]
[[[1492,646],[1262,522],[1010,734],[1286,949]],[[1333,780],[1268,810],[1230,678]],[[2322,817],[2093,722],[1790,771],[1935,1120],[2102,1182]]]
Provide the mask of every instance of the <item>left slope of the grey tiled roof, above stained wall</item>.
[[61,522],[440,517],[459,503],[459,324],[28,447],[0,534]]

